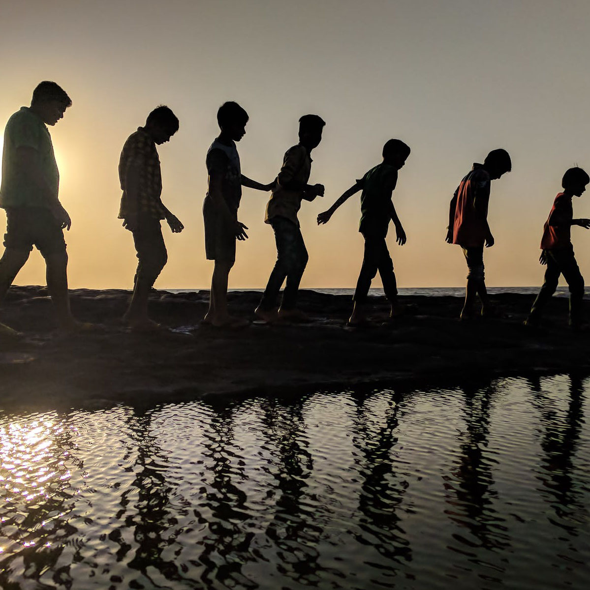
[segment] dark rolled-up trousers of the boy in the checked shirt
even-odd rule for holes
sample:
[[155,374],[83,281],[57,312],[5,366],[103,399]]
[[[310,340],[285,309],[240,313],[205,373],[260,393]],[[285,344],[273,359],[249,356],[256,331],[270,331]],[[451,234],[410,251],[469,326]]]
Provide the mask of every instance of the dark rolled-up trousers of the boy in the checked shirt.
[[138,258],[133,284],[141,279],[153,286],[168,261],[160,220],[141,217],[137,229],[133,231],[133,243]]

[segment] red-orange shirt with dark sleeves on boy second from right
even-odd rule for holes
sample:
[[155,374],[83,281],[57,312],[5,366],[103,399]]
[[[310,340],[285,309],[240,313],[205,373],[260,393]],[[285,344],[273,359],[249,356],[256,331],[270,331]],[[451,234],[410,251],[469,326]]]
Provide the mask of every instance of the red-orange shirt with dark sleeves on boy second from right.
[[463,248],[483,246],[487,237],[490,175],[483,166],[474,163],[471,172],[462,179],[455,191],[455,222],[453,244]]

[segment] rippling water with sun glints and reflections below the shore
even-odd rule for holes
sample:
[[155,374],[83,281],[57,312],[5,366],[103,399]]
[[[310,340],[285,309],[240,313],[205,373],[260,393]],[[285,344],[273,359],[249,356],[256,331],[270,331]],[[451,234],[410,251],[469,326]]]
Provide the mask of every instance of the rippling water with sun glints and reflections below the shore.
[[590,381],[0,412],[2,588],[586,588]]

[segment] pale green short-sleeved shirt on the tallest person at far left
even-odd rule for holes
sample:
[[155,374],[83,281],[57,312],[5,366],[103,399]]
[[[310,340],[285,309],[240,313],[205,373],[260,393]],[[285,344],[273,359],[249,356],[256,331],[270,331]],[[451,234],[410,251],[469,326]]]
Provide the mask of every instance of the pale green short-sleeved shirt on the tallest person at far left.
[[17,165],[18,148],[37,151],[41,172],[57,198],[60,173],[49,130],[41,117],[28,107],[21,107],[8,119],[4,130],[0,207],[49,207],[46,196],[30,181],[28,172]]

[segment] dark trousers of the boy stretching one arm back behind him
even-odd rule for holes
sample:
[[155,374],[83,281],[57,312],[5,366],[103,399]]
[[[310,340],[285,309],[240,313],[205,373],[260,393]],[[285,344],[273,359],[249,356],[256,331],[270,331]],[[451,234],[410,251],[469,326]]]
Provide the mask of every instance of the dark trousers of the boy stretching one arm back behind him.
[[383,283],[383,291],[389,301],[394,301],[397,296],[397,283],[393,272],[393,261],[387,250],[387,242],[384,235],[374,235],[363,232],[364,255],[363,266],[358,274],[357,287],[354,290],[353,300],[357,303],[366,303],[367,295],[371,287],[371,281],[377,271]]

